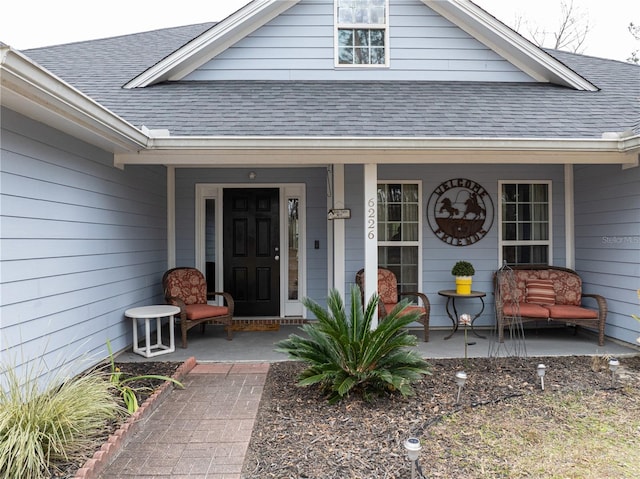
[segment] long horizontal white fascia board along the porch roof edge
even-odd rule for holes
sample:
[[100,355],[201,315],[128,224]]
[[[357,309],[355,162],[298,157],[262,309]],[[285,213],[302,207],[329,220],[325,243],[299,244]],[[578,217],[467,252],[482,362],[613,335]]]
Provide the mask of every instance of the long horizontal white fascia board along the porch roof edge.
[[311,166],[332,163],[620,164],[626,141],[539,138],[153,138],[150,148],[116,155],[117,165]]

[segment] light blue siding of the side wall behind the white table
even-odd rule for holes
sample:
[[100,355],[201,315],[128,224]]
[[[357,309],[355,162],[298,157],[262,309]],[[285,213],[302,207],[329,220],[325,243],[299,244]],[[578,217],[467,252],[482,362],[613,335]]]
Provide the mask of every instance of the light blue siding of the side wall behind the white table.
[[[110,153],[2,111],[2,360],[43,355],[76,372],[132,340],[124,311],[161,302],[163,167],[113,167]],[[16,364],[18,365],[18,364]]]

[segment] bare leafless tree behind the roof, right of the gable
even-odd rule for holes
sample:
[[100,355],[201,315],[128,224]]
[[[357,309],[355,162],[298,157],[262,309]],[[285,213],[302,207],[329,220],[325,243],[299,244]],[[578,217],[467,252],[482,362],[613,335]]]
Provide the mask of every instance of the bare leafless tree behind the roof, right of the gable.
[[[561,15],[557,27],[549,30],[522,18],[517,18],[514,29],[529,37],[539,47],[566,50],[574,53],[584,51],[584,42],[591,31],[587,12],[573,4],[573,0],[560,2]],[[526,28],[526,33],[523,29]]]

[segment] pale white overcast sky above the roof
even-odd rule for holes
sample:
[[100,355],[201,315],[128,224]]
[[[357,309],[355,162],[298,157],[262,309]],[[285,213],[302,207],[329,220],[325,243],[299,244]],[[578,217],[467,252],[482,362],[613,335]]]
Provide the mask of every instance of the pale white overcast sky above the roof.
[[[103,7],[87,0],[4,0],[0,7],[0,41],[25,50],[215,22],[248,2],[111,0],[101,3]],[[520,18],[555,31],[561,18],[560,0],[476,0],[476,3],[510,26]],[[640,49],[640,41],[627,30],[629,22],[640,24],[640,0],[573,0],[573,4],[586,16],[591,28],[582,53],[625,61],[632,51]]]

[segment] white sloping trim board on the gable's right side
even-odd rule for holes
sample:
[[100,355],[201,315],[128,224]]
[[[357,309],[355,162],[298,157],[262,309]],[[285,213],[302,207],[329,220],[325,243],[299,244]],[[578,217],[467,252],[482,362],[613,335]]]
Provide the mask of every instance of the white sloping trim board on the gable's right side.
[[422,0],[429,8],[539,82],[576,90],[598,87],[469,0]]

